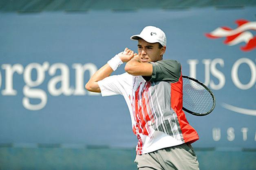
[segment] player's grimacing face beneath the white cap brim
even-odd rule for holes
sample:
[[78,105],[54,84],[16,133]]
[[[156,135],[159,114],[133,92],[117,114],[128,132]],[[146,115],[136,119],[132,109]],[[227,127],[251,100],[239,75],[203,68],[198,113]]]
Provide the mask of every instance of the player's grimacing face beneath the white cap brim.
[[164,54],[166,46],[159,49],[158,43],[148,43],[144,39],[138,40],[138,54],[141,52],[139,56],[140,62],[156,62],[162,59],[162,55]]

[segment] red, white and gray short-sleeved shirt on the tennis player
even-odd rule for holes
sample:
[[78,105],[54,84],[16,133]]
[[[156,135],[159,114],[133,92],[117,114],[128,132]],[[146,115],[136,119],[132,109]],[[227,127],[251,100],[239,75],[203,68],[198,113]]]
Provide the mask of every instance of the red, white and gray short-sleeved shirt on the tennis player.
[[151,64],[150,77],[124,73],[98,81],[102,96],[124,96],[138,138],[137,155],[199,139],[182,110],[180,63],[161,60]]

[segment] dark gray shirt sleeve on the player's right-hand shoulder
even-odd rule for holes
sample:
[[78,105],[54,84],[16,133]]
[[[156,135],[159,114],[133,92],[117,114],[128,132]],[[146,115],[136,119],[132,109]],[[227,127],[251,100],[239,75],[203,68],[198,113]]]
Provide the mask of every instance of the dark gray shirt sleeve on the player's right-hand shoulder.
[[176,83],[181,76],[181,63],[175,60],[150,62],[153,65],[151,76],[142,76],[146,81],[170,81]]

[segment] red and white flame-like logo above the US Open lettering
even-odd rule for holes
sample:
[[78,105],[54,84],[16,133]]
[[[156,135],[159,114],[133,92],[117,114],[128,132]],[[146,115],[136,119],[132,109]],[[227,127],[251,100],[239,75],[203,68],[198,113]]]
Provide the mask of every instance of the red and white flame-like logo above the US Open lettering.
[[216,28],[211,33],[206,33],[205,36],[211,39],[226,37],[224,44],[234,46],[241,42],[245,42],[245,46],[241,46],[242,51],[250,51],[256,48],[256,36],[248,30],[256,30],[256,22],[247,20],[236,20],[237,28],[231,29],[227,26]]

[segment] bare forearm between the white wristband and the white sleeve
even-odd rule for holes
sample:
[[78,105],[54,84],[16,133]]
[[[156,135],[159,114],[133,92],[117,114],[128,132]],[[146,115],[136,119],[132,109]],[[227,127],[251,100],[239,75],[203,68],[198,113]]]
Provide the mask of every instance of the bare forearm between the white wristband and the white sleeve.
[[103,80],[104,78],[110,76],[113,72],[112,68],[110,68],[109,64],[105,64],[100,68],[97,72],[93,74],[90,80],[86,83],[85,88],[90,92],[98,92],[100,93],[100,88],[98,85],[98,81]]

